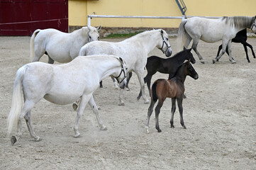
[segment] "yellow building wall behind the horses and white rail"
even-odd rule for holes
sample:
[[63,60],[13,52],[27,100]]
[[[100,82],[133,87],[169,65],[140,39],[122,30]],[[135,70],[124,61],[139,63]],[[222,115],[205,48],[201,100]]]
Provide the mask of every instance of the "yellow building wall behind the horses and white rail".
[[[255,0],[184,0],[187,16],[255,16]],[[86,26],[87,15],[182,16],[174,0],[69,0],[69,26]],[[179,19],[92,18],[91,26],[177,28]]]

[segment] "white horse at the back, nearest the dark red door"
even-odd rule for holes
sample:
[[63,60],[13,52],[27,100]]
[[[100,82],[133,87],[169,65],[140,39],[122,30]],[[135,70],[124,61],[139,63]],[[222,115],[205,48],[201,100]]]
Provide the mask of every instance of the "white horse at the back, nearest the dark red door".
[[82,27],[72,33],[63,33],[52,28],[35,30],[30,38],[30,58],[38,62],[45,54],[48,63],[70,62],[78,56],[80,48],[88,42],[99,40],[99,30],[92,26]]

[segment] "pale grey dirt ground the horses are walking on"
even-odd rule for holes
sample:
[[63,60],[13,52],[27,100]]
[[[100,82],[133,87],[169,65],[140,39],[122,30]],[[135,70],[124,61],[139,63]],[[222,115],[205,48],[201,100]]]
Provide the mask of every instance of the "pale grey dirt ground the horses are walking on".
[[[231,64],[227,55],[212,64],[221,42],[199,42],[206,63],[201,64],[194,53],[199,79],[185,81],[187,130],[179,124],[178,110],[175,128],[170,128],[171,100],[167,99],[160,113],[162,132],[155,130],[152,114],[146,134],[149,104],[136,100],[140,87],[133,74],[130,91],[124,93],[125,106],[118,106],[119,90],[110,78],[96,91],[95,101],[108,130],[99,130],[87,106],[79,121],[81,137],[74,138],[72,104],[57,106],[43,99],[32,110],[33,128],[42,140],[33,141],[23,120],[23,136],[11,145],[6,118],[16,71],[30,62],[29,42],[29,37],[0,37],[0,169],[256,169],[256,59],[248,49],[251,63],[247,62],[243,45],[233,43],[237,64]],[[175,54],[175,38],[169,42]],[[255,38],[247,42],[256,49]],[[165,57],[157,49],[150,55]],[[47,62],[47,57],[40,61]],[[152,80],[159,78],[167,75],[157,73]]]

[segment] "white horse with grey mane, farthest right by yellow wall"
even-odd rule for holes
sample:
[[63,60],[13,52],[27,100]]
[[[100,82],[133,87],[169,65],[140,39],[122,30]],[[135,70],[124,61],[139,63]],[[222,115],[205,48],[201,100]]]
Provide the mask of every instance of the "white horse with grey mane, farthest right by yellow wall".
[[199,40],[204,42],[217,42],[222,40],[222,52],[213,60],[213,64],[218,62],[223,54],[225,54],[226,47],[228,46],[229,60],[235,63],[231,55],[231,40],[235,38],[235,35],[245,28],[250,28],[252,32],[256,33],[254,17],[249,16],[232,16],[223,17],[219,19],[208,19],[193,17],[185,21],[182,21],[179,25],[179,48],[188,47],[191,40],[193,40],[192,48],[198,55],[201,63],[204,63],[203,57],[201,57],[197,50]]

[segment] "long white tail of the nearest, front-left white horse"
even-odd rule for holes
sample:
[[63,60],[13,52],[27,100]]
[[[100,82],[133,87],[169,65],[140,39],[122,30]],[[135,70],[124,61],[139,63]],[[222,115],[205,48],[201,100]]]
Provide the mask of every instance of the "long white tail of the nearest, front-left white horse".
[[16,78],[13,85],[13,97],[11,101],[11,111],[9,113],[8,119],[7,119],[7,135],[9,136],[11,133],[11,130],[13,128],[13,125],[18,124],[18,119],[20,117],[21,111],[23,109],[23,95],[22,95],[22,81],[24,74],[26,72],[27,67],[23,66],[20,69],[18,69],[16,73]]

